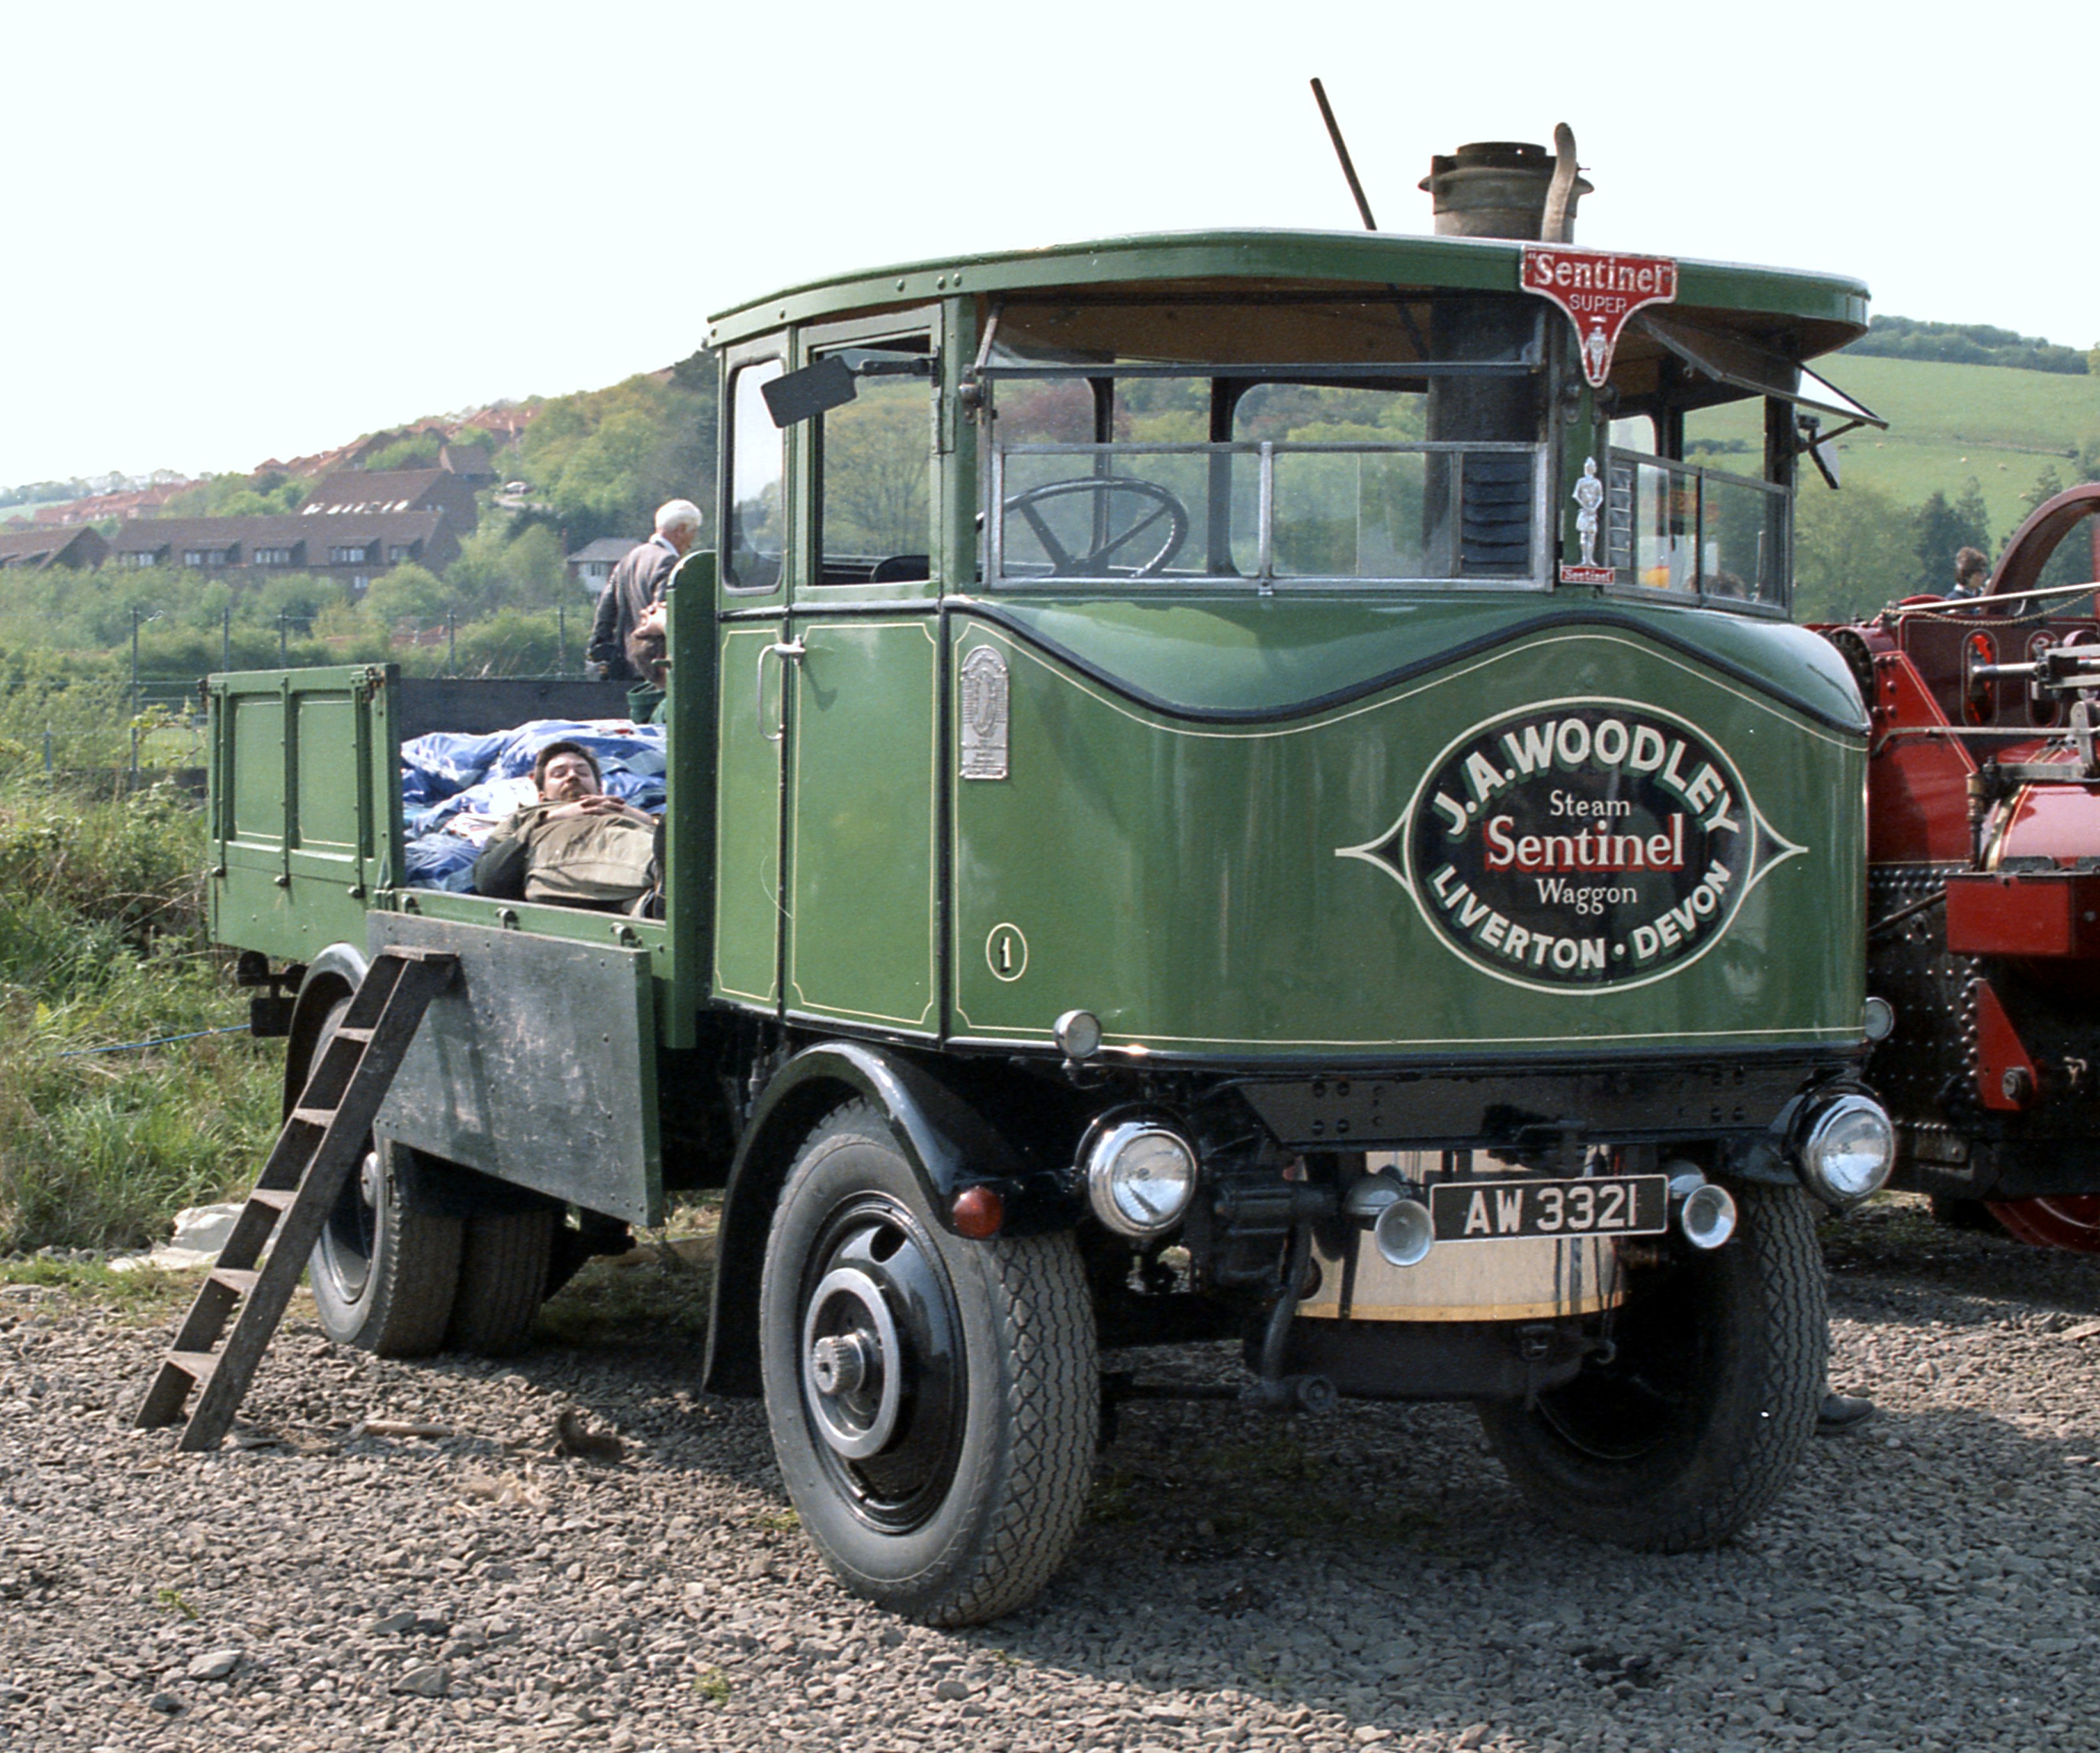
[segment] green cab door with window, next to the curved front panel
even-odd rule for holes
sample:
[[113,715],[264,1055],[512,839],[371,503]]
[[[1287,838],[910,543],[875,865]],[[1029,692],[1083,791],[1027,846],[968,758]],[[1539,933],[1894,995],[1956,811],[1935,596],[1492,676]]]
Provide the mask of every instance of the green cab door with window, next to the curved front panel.
[[939,1020],[939,315],[808,332],[867,369],[804,422],[808,544],[790,588],[788,1014],[882,1033]]

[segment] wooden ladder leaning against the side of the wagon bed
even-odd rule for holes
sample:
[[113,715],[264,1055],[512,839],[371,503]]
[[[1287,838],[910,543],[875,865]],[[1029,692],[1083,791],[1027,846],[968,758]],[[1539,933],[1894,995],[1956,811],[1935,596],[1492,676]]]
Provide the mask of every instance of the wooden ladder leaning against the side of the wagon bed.
[[[174,1423],[191,1388],[200,1388],[189,1415],[185,1451],[216,1449],[233,1425],[248,1386],[262,1365],[286,1304],[307,1270],[307,1255],[344,1182],[357,1171],[365,1134],[401,1069],[401,1058],[424,1010],[458,972],[449,951],[393,945],[374,959],[351,1008],[342,1014],[313,1075],[277,1134],[248,1205],[218,1253],[218,1264],[197,1291],[174,1344],[139,1400],[139,1430]],[[256,1268],[275,1232],[277,1245]],[[223,1352],[212,1346],[239,1304],[233,1335]]]

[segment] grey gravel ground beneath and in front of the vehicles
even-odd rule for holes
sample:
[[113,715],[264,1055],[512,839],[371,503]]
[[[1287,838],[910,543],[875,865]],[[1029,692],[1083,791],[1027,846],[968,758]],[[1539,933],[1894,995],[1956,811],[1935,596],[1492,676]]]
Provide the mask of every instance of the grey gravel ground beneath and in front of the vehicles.
[[294,1306],[254,1446],[183,1457],[118,1411],[166,1312],[0,1287],[0,1747],[2100,1747],[2100,1260],[1915,1203],[1827,1249],[1884,1411],[1726,1551],[1544,1530],[1457,1409],[1147,1402],[1050,1591],[962,1633],[830,1583],[682,1339],[405,1367]]

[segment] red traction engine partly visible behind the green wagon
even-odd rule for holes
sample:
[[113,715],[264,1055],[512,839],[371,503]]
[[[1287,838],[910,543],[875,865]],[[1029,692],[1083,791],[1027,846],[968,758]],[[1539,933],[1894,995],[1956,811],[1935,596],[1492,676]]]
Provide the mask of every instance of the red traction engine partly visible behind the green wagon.
[[[1892,1184],[1955,1222],[2100,1253],[2100,621],[2037,588],[2100,485],[2043,504],[1976,598],[1823,628],[1873,714],[1867,1075]],[[2087,519],[2094,519],[2087,523]],[[2077,611],[2077,613],[2073,613]]]

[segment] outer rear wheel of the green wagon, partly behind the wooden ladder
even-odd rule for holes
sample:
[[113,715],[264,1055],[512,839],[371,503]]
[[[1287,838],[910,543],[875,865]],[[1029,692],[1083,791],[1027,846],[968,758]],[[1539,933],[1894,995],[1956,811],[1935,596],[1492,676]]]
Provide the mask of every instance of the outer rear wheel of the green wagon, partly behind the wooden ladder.
[[[344,995],[313,1048],[319,1062],[351,1008]],[[391,1140],[365,1138],[307,1262],[321,1331],[382,1358],[428,1356],[445,1342],[460,1276],[460,1220],[443,1209],[437,1167]]]

